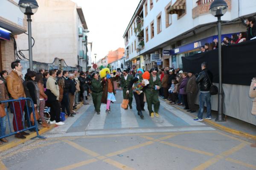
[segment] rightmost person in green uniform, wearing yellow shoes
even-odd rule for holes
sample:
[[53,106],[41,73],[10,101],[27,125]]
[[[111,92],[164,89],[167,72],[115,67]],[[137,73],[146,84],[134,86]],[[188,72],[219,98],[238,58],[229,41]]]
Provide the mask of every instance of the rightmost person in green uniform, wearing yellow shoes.
[[[149,111],[149,116],[154,117],[159,117],[159,107],[160,107],[160,102],[158,100],[158,90],[161,88],[161,81],[160,78],[157,76],[158,69],[153,68],[151,69],[151,75],[149,79],[149,84],[146,86],[145,89],[145,96],[148,104],[148,111]],[[154,105],[154,111],[152,110],[152,104]]]

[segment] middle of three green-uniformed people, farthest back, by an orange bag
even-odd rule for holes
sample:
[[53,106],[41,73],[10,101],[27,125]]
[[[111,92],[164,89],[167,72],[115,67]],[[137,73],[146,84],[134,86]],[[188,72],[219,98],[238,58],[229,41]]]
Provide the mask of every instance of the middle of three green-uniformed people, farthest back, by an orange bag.
[[[128,74],[128,70],[124,70],[123,71],[123,76],[121,78],[121,88],[123,90],[123,98],[124,99],[127,99],[127,94],[128,94],[128,98],[129,98],[129,107],[130,109],[132,109],[132,106],[131,106],[131,103],[132,103],[132,95],[133,95],[133,92],[132,92],[132,89],[128,90],[128,85],[130,84],[130,82],[132,81],[134,77],[130,74]],[[128,107],[125,109],[127,110]]]

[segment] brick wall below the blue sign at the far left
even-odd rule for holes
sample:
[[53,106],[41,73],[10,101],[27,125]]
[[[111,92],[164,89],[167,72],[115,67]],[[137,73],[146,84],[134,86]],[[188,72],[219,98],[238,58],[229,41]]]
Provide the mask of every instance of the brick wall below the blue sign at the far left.
[[10,73],[12,71],[11,63],[14,61],[14,43],[12,40],[0,40],[1,41],[1,52],[2,52],[2,61],[3,70]]

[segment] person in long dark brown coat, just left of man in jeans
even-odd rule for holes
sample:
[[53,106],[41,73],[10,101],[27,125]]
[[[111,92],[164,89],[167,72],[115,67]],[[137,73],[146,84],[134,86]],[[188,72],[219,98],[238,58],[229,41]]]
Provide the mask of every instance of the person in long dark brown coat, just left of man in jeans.
[[186,93],[188,97],[188,104],[189,104],[189,110],[187,112],[195,113],[196,107],[195,107],[195,99],[198,94],[198,84],[195,82],[195,74],[193,74],[193,71],[188,72],[189,75],[189,81],[186,85]]

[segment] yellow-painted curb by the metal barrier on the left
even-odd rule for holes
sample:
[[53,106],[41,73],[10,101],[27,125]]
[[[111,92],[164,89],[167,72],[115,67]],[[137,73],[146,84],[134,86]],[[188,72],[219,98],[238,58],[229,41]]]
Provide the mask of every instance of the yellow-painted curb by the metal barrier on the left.
[[[77,105],[77,108],[75,109],[75,111],[79,110],[79,108],[81,108],[83,106],[82,102],[80,104]],[[49,130],[52,130],[53,128],[55,127],[55,125],[50,125],[49,128],[47,127],[43,127],[40,129],[40,131],[38,131],[39,135],[43,134],[43,133],[46,133],[48,132]],[[26,136],[26,139],[16,139],[12,142],[8,142],[7,144],[4,144],[3,146],[0,147],[0,150],[1,151],[4,151],[4,150],[8,150],[12,147],[15,147],[19,144],[23,144],[25,143],[26,141],[29,141],[31,138],[35,137],[36,136],[36,132],[34,133],[30,133],[28,136]]]

